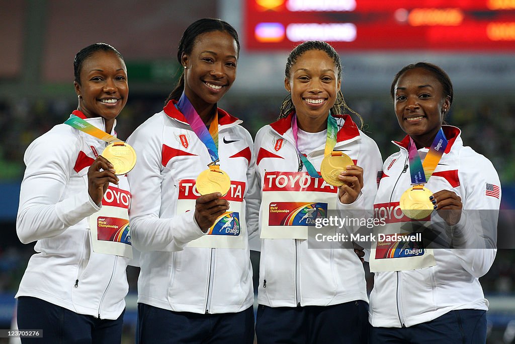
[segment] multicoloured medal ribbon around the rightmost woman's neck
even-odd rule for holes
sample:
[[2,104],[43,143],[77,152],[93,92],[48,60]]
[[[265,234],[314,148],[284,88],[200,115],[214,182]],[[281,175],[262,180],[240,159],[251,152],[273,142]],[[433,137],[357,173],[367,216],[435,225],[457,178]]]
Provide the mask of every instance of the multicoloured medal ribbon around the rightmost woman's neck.
[[415,142],[410,137],[408,145],[409,174],[411,176],[411,184],[427,183],[431,175],[436,169],[438,162],[442,158],[445,148],[447,148],[447,138],[443,134],[443,129],[436,134],[433,143],[424,158],[424,163],[420,160]]

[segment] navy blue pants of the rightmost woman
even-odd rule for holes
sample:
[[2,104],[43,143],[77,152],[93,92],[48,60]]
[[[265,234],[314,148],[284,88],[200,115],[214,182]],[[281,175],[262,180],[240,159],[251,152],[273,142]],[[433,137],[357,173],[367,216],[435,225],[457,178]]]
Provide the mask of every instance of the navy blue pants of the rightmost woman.
[[460,309],[410,327],[371,327],[370,343],[485,344],[486,310]]

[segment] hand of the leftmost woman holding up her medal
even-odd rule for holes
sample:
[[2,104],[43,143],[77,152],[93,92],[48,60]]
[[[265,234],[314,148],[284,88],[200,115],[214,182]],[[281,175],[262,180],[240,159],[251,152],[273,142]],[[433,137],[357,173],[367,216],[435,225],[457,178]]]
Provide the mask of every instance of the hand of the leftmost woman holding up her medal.
[[119,179],[114,172],[113,164],[101,155],[88,169],[88,193],[95,204],[102,202],[109,183],[118,185]]

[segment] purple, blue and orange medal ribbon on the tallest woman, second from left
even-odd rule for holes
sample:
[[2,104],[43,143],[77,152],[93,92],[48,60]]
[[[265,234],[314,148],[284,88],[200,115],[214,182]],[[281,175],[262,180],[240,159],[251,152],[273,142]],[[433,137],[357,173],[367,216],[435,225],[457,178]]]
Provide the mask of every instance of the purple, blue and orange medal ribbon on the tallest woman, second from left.
[[198,115],[197,111],[193,107],[190,100],[186,97],[184,92],[177,102],[177,108],[182,112],[186,121],[192,127],[193,132],[197,135],[200,141],[208,149],[211,160],[214,162],[218,161],[218,112],[215,112],[215,116],[211,121],[208,128],[205,127],[204,122]]

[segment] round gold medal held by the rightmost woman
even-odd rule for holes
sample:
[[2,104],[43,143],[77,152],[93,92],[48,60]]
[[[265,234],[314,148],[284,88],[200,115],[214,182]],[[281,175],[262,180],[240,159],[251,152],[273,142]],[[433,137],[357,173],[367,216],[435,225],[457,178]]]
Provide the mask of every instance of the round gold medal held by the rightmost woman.
[[431,215],[434,205],[430,201],[433,194],[423,185],[414,185],[404,191],[399,205],[402,212],[410,219],[420,220]]

